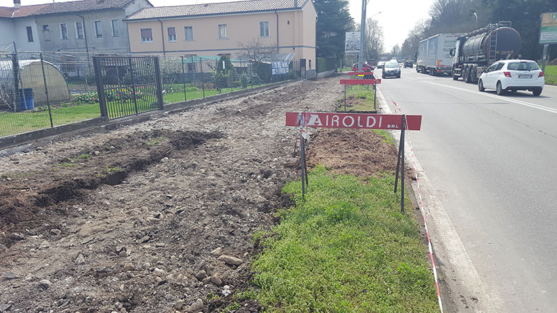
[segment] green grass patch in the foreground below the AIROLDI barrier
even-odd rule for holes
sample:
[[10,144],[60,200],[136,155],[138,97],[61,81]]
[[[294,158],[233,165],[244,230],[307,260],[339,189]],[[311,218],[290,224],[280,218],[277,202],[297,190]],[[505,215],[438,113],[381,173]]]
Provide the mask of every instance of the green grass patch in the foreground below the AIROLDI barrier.
[[267,312],[439,312],[418,225],[393,186],[393,175],[363,182],[318,167],[304,201],[301,182],[288,183],[296,206],[261,239],[251,296]]

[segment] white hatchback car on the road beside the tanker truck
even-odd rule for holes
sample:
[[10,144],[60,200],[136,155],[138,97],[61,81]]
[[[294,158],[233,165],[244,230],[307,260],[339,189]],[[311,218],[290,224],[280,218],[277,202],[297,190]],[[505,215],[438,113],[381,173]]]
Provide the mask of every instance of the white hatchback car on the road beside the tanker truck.
[[495,89],[497,95],[529,90],[535,96],[544,89],[544,72],[538,63],[528,60],[501,60],[493,63],[478,79],[478,90]]

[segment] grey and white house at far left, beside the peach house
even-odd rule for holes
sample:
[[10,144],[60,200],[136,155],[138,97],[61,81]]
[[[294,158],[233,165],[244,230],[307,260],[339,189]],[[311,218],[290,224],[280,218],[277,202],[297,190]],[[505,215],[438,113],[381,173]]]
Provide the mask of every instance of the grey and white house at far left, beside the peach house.
[[14,8],[0,8],[0,44],[15,41],[18,50],[26,51],[130,53],[123,19],[148,7],[152,7],[148,0],[81,0],[38,6],[19,6],[19,0],[14,0]]

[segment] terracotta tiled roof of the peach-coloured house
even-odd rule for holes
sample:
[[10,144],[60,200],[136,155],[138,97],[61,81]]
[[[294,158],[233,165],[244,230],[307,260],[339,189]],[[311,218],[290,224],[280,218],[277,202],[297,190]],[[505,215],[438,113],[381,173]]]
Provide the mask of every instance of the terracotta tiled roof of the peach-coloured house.
[[[295,6],[295,2],[297,6]],[[127,17],[125,21],[292,10],[302,8],[307,2],[308,0],[249,0],[194,4],[189,6],[159,6],[155,8],[143,8],[130,15],[130,17]]]

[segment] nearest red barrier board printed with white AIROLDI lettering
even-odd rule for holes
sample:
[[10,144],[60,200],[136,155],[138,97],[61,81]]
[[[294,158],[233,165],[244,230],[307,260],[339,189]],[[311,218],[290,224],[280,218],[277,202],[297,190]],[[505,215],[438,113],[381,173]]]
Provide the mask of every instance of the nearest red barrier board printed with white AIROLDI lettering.
[[[402,115],[366,113],[301,113],[304,127],[401,129]],[[406,130],[420,130],[422,115],[406,115]],[[286,113],[286,126],[300,126],[299,113]]]

